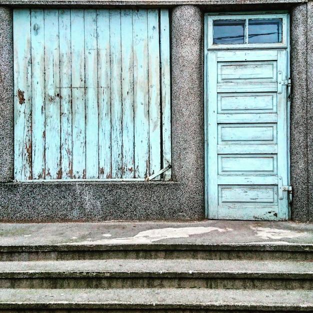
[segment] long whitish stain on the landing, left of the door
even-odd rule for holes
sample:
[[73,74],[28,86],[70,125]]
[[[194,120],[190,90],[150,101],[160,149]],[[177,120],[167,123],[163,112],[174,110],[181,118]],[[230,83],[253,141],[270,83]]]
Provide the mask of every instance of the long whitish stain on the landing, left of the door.
[[190,235],[202,234],[210,231],[224,232],[231,230],[233,229],[219,227],[168,227],[140,231],[132,237],[109,238],[94,241],[67,242],[63,244],[147,244],[162,239],[187,238]]

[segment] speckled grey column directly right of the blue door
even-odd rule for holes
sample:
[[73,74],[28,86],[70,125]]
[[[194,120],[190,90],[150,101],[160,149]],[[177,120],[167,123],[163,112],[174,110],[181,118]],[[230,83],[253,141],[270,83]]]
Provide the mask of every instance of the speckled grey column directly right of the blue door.
[[306,3],[295,6],[291,11],[290,174],[291,218],[298,221],[308,220],[306,23]]

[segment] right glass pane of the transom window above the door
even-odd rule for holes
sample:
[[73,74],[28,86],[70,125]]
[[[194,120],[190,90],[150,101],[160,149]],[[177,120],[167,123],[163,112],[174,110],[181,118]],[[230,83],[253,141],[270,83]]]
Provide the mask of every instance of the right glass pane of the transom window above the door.
[[248,42],[249,43],[274,43],[281,42],[282,37],[281,18],[249,19]]

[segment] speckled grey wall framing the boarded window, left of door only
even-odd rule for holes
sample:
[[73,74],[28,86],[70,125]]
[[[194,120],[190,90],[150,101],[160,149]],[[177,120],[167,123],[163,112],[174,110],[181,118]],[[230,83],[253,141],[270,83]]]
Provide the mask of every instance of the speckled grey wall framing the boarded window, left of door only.
[[[7,8],[1,8],[0,12],[5,77],[2,90],[6,92],[0,102],[5,134],[1,147],[5,155],[1,159],[5,169],[3,181],[12,179],[13,165],[12,15]],[[2,183],[0,220],[202,219],[202,28],[199,8],[179,6],[173,10],[172,145],[177,146],[172,151],[174,181]]]

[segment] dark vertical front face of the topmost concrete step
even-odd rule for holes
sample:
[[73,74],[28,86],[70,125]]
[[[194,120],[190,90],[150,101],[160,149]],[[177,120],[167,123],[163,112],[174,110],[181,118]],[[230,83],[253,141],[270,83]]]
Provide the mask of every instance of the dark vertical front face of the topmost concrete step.
[[259,259],[312,260],[313,244],[266,243],[153,243],[0,245],[0,261],[78,259]]

